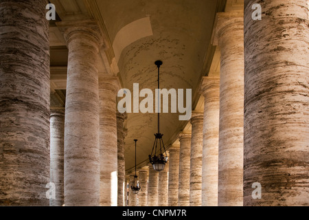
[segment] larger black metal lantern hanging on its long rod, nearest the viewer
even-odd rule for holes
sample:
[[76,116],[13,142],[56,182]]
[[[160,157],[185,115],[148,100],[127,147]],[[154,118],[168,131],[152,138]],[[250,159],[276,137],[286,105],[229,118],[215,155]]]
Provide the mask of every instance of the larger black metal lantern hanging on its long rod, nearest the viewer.
[[[162,61],[156,61],[155,65],[158,67],[158,93],[160,92],[160,67],[162,65]],[[158,94],[158,107],[160,107],[160,94]],[[149,155],[150,164],[152,164],[152,168],[156,171],[164,170],[166,162],[168,162],[168,154],[165,151],[165,146],[163,143],[163,134],[160,133],[160,111],[158,109],[158,133],[155,134],[155,144],[152,146],[152,152]],[[159,148],[159,153],[157,155],[157,150]],[[163,150],[163,151],[162,151]],[[165,155],[164,155],[165,153]],[[153,155],[152,155],[153,154]]]

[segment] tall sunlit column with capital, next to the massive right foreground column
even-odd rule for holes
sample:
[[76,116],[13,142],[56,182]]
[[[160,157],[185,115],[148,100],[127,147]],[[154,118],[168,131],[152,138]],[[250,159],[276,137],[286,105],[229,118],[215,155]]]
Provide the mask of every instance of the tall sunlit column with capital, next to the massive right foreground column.
[[243,15],[218,13],[214,45],[220,46],[218,205],[242,206],[244,126]]

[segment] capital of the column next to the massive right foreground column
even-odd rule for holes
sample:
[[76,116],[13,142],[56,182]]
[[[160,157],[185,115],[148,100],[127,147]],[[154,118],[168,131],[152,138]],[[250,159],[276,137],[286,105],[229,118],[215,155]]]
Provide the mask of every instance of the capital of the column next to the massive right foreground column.
[[[243,12],[218,12],[214,23],[214,32],[211,42],[213,45],[220,45],[220,37],[229,26],[244,25]],[[231,28],[233,30],[233,28]]]

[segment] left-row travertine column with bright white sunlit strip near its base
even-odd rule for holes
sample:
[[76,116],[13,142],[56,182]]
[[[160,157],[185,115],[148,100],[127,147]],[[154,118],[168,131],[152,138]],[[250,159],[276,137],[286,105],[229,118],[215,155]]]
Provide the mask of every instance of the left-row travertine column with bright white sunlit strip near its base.
[[117,78],[99,78],[100,89],[100,206],[117,206]]

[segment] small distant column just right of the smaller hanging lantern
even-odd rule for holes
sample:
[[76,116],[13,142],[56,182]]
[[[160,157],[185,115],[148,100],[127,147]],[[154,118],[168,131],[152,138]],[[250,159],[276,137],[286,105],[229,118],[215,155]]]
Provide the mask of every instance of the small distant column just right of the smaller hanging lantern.
[[139,170],[139,206],[148,206],[148,168],[141,168]]

